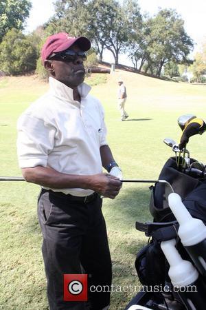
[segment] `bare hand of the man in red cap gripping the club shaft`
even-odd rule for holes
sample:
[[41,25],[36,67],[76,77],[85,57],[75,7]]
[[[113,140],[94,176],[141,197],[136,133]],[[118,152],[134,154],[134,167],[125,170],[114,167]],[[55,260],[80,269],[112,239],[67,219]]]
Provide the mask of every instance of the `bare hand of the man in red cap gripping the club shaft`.
[[111,176],[111,174],[95,174],[91,176],[90,189],[97,192],[101,196],[114,199],[122,187],[119,178]]

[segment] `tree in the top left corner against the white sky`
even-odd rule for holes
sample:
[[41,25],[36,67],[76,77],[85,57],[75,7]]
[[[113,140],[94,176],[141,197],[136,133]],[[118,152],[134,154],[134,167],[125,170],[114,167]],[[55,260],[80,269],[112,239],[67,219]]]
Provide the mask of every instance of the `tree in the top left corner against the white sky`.
[[31,8],[32,3],[29,0],[0,1],[0,43],[8,30],[23,30],[23,24],[29,17]]

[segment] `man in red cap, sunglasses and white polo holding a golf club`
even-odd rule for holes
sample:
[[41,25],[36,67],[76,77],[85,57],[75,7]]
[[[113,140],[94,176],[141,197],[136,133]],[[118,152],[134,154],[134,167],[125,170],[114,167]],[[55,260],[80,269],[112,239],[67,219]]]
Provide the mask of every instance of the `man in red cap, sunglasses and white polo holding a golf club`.
[[[41,57],[49,92],[27,108],[17,126],[23,177],[42,187],[38,220],[52,310],[86,309],[84,302],[63,300],[64,274],[87,273],[89,287],[111,285],[101,196],[117,196],[121,169],[106,143],[102,105],[83,83],[90,47],[89,39],[65,32],[47,38]],[[108,309],[109,300],[109,291],[89,291],[89,309]]]

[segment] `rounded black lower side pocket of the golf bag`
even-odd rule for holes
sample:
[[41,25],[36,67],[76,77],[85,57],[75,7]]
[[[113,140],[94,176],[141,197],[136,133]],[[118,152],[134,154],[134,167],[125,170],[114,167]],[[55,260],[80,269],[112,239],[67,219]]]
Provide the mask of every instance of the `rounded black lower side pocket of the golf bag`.
[[159,242],[152,239],[142,248],[135,260],[135,268],[142,285],[162,285],[165,281],[165,256]]

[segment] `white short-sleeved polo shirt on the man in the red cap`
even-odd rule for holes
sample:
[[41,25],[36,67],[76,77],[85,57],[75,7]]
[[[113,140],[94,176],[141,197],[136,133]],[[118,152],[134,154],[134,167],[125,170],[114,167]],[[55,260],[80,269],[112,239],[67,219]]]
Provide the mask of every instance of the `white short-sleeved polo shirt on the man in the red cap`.
[[[91,87],[78,86],[81,103],[73,90],[49,78],[49,91],[23,112],[17,123],[19,167],[52,167],[64,174],[102,172],[100,147],[106,143],[104,110],[89,94]],[[88,196],[90,189],[52,189],[73,196]]]

